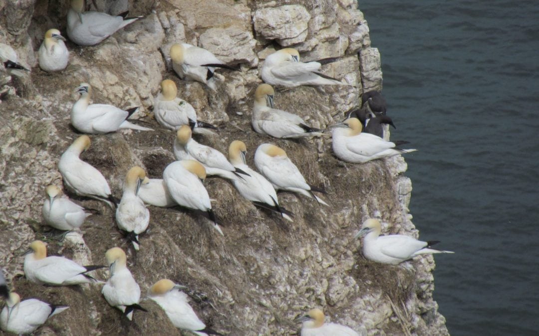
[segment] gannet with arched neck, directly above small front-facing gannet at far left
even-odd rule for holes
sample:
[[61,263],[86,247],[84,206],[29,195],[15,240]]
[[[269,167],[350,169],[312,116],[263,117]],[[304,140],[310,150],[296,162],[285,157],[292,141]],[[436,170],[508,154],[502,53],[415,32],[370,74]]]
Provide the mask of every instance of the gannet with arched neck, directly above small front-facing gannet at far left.
[[77,195],[92,197],[107,203],[114,209],[116,199],[110,193],[107,180],[88,163],[79,159],[80,153],[90,147],[88,135],[81,135],[62,154],[58,163],[58,170],[64,178],[64,183]]

